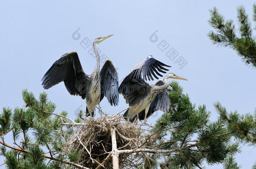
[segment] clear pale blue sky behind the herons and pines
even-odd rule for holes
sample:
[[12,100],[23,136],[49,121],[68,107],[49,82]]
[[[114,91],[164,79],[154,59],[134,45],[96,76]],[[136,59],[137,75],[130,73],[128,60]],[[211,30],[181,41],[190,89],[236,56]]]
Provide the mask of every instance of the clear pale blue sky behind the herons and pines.
[[[81,64],[90,74],[95,58],[83,48],[84,38],[93,41],[99,36],[114,34],[99,45],[101,54],[110,58],[122,79],[133,66],[153,55],[188,81],[179,81],[196,105],[213,106],[219,101],[228,111],[253,113],[256,108],[256,71],[246,66],[230,48],[213,45],[206,34],[212,28],[207,20],[209,9],[216,6],[226,19],[236,19],[236,8],[244,5],[252,18],[253,0],[215,1],[7,1],[0,0],[0,108],[24,106],[21,91],[27,88],[36,96],[44,89],[41,78],[61,55],[77,51]],[[254,26],[254,24],[253,24]],[[80,39],[72,34],[80,29]],[[158,41],[150,36],[157,30]],[[161,43],[165,40],[165,44]],[[168,44],[169,46],[168,46]],[[91,46],[90,46],[91,47]],[[168,47],[168,48],[167,48]],[[166,48],[166,49],[165,49]],[[174,48],[178,56],[170,60],[165,53]],[[162,51],[163,50],[163,51]],[[182,56],[187,64],[180,69],[176,62]],[[176,63],[175,63],[176,62]],[[68,111],[75,118],[78,108],[85,109],[85,101],[70,96],[63,83],[46,91],[57,104],[57,112]],[[111,107],[106,98],[101,106],[108,114],[116,114],[128,105],[122,96],[118,107]],[[157,113],[160,116],[161,112]],[[148,123],[154,124],[156,115]],[[11,138],[8,138],[12,144]],[[243,146],[237,161],[249,169],[256,161],[254,146]],[[3,163],[3,158],[0,158]],[[207,166],[208,169],[220,168]],[[5,168],[1,166],[0,169]]]

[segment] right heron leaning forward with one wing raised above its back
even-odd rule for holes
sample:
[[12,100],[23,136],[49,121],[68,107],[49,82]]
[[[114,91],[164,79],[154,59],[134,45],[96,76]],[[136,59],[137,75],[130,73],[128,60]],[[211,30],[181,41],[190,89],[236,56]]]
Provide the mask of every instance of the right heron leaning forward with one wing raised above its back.
[[[147,83],[147,79],[149,81],[153,80],[152,75],[159,79],[156,74],[162,76],[159,72],[166,73],[165,71],[168,71],[163,66],[170,67],[149,56],[138,63],[120,84],[118,92],[123,94],[126,103],[129,104],[129,108],[123,116],[128,117],[129,121],[133,122],[139,113],[141,113],[140,120],[146,119],[149,110],[149,114],[157,110],[169,110],[170,102],[167,96],[168,90],[171,90],[171,88],[167,79],[186,79],[180,78],[173,73],[168,73],[155,85]],[[144,117],[142,117],[143,115]]]

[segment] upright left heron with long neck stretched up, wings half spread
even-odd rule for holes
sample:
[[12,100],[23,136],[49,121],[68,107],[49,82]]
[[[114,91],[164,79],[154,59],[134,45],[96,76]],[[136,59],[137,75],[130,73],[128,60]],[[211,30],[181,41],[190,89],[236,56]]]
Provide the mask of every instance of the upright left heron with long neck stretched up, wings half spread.
[[76,52],[66,53],[55,61],[43,76],[43,88],[51,88],[63,81],[71,95],[79,95],[82,99],[86,98],[86,114],[91,117],[94,116],[94,109],[104,96],[107,97],[111,106],[117,106],[118,73],[114,64],[107,60],[99,71],[100,58],[97,46],[110,36],[112,35],[96,38],[93,42],[97,62],[91,75],[84,72]]

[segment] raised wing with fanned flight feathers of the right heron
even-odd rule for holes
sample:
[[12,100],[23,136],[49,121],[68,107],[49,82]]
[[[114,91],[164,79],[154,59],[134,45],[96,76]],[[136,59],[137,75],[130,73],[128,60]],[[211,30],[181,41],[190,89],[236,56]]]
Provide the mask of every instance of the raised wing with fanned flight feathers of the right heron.
[[[165,71],[169,71],[167,68],[164,68],[163,66],[166,67],[171,67],[168,66],[160,61],[157,61],[154,59],[152,56],[146,57],[143,61],[138,63],[133,70],[124,78],[122,83],[120,84],[120,87],[118,88],[119,93],[125,93],[125,86],[126,84],[131,81],[132,79],[142,79],[142,80],[154,80],[152,76],[158,79],[158,76],[162,75],[159,72],[166,73]],[[165,71],[163,71],[165,70]],[[157,75],[156,75],[157,74]]]

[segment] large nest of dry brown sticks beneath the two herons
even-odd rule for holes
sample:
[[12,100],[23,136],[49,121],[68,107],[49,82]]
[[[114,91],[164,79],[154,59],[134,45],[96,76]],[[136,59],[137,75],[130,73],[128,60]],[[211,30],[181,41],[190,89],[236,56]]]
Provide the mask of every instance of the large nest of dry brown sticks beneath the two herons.
[[[146,140],[148,131],[152,128],[144,123],[128,122],[120,114],[116,116],[103,114],[97,119],[86,118],[81,124],[73,131],[67,143],[69,147],[67,151],[75,149],[80,152],[81,160],[78,163],[91,169],[112,168],[111,128],[115,128],[116,131],[118,150],[131,150],[144,145],[148,141]],[[119,154],[119,168],[136,168],[142,163],[142,159],[143,153]]]

